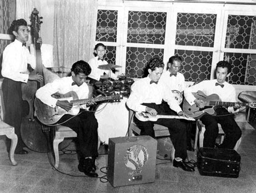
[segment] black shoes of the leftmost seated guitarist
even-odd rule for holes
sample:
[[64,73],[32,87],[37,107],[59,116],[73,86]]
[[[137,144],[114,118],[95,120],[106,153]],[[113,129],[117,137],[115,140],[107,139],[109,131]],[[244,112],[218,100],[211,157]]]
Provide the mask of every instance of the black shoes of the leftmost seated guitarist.
[[95,172],[96,166],[91,158],[80,159],[78,169],[80,172],[84,172],[85,175],[95,178],[98,177],[98,174]]

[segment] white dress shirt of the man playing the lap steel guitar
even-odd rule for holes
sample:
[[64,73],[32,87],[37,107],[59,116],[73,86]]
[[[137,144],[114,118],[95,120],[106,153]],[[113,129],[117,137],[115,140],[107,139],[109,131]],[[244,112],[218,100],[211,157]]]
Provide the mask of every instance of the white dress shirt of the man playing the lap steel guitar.
[[133,83],[132,93],[127,99],[127,106],[137,112],[146,111],[146,106],[141,105],[143,103],[155,103],[157,105],[162,104],[162,100],[165,100],[169,107],[179,113],[182,111],[180,106],[177,104],[174,97],[167,94],[166,88],[161,84],[150,83],[151,79],[145,77]]

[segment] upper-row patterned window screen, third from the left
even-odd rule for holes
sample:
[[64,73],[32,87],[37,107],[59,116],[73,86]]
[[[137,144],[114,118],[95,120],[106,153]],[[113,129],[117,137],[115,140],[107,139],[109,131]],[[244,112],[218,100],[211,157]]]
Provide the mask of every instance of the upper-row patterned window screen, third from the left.
[[176,45],[213,47],[216,15],[178,13]]

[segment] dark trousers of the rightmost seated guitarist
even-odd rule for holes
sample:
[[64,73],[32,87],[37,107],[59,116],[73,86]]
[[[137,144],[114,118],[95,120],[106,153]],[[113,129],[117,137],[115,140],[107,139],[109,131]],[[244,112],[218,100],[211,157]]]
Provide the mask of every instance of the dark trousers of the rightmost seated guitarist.
[[[241,137],[241,130],[236,124],[233,114],[230,114],[226,108],[217,108],[217,116],[205,114],[201,121],[205,125],[204,147],[214,147],[215,140],[219,133],[218,123],[221,124],[222,130],[225,133],[224,141],[219,148],[233,149],[236,141]],[[222,116],[224,115],[224,116]],[[226,116],[225,116],[226,115]]]

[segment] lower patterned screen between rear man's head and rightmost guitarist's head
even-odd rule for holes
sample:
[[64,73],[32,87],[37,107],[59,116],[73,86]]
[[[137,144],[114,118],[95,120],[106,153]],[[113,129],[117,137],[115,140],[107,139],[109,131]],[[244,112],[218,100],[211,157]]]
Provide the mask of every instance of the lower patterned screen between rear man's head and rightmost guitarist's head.
[[182,57],[182,69],[186,81],[210,80],[213,52],[175,50]]

